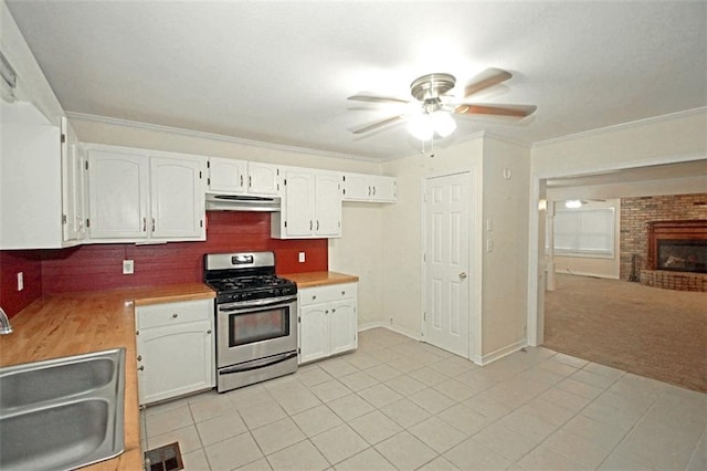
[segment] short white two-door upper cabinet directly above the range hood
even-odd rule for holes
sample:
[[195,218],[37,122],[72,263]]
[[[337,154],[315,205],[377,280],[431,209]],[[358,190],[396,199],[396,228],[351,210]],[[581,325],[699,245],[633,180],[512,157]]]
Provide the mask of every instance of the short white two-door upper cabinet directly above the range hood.
[[279,171],[276,165],[209,158],[209,191],[225,195],[277,195]]

